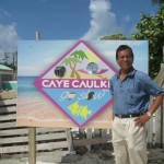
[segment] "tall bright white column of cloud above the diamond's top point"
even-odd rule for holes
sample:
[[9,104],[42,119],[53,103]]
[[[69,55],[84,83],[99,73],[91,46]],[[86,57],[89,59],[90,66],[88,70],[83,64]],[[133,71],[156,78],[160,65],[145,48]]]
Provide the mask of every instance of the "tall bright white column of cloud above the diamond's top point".
[[106,34],[121,31],[116,23],[116,14],[110,11],[109,0],[91,0],[91,22],[89,31],[82,36],[84,39],[96,39]]

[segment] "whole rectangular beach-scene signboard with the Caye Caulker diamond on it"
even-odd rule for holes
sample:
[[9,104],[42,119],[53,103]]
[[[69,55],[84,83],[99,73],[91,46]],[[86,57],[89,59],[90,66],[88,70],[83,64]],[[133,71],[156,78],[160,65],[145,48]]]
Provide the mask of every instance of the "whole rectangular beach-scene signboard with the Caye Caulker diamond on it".
[[121,44],[147,72],[148,42],[19,42],[17,125],[109,128],[109,80]]

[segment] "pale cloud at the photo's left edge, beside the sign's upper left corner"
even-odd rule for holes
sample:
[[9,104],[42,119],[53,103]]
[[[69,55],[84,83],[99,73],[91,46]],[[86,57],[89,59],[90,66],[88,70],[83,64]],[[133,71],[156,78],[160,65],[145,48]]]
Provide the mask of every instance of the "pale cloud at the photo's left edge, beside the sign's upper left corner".
[[17,45],[17,33],[15,24],[0,24],[0,52],[14,52]]

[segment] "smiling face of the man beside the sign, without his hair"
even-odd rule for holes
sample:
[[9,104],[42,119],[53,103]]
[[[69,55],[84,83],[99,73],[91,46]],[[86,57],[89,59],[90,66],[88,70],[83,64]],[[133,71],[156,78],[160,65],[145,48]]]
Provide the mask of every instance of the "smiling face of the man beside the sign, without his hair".
[[121,70],[129,70],[133,63],[133,57],[129,49],[125,49],[118,52],[117,63]]

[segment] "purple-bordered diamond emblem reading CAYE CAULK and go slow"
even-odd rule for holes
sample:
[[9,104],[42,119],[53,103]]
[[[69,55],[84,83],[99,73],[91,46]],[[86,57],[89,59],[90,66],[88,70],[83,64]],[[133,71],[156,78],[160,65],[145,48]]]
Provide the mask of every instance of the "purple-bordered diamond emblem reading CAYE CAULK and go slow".
[[109,77],[117,70],[80,40],[34,81],[35,86],[77,126],[109,105]]

